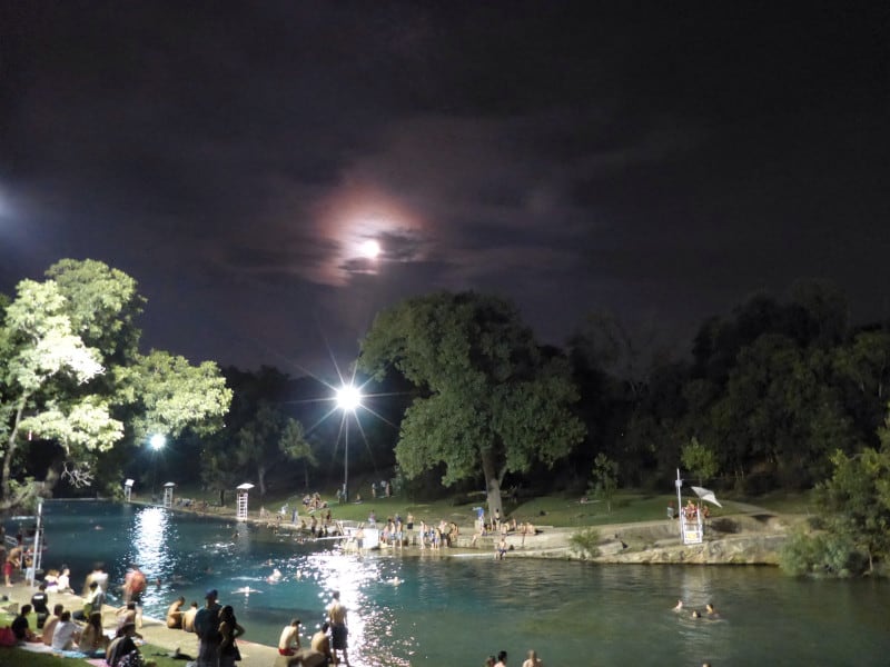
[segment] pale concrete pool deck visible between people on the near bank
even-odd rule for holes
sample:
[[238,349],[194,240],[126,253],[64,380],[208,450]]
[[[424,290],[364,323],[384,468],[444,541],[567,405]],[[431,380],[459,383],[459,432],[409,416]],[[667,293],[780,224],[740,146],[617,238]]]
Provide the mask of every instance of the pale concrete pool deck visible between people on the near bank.
[[[0,606],[8,607],[10,605],[31,604],[31,596],[37,591],[37,587],[27,586],[23,581],[13,584],[11,588],[6,588],[0,585],[0,593],[6,595],[9,600],[0,603]],[[65,605],[69,611],[76,611],[83,607],[83,598],[70,593],[49,593],[50,610],[55,605]],[[102,607],[102,627],[106,631],[113,631],[117,627],[117,616],[115,615],[115,607],[106,605]],[[245,627],[245,636],[249,637],[250,628]],[[142,627],[139,629],[148,644],[160,646],[164,649],[172,653],[177,648],[180,653],[187,654],[192,658],[198,656],[198,637],[192,633],[184,630],[171,630],[167,627],[165,619],[158,618],[142,618]],[[254,644],[247,639],[238,639],[238,648],[241,651],[241,661],[238,663],[241,667],[273,667],[275,659],[278,657],[278,649],[271,646],[264,646],[261,644]],[[144,651],[146,660],[152,659],[150,653]],[[184,666],[186,660],[181,663]]]

